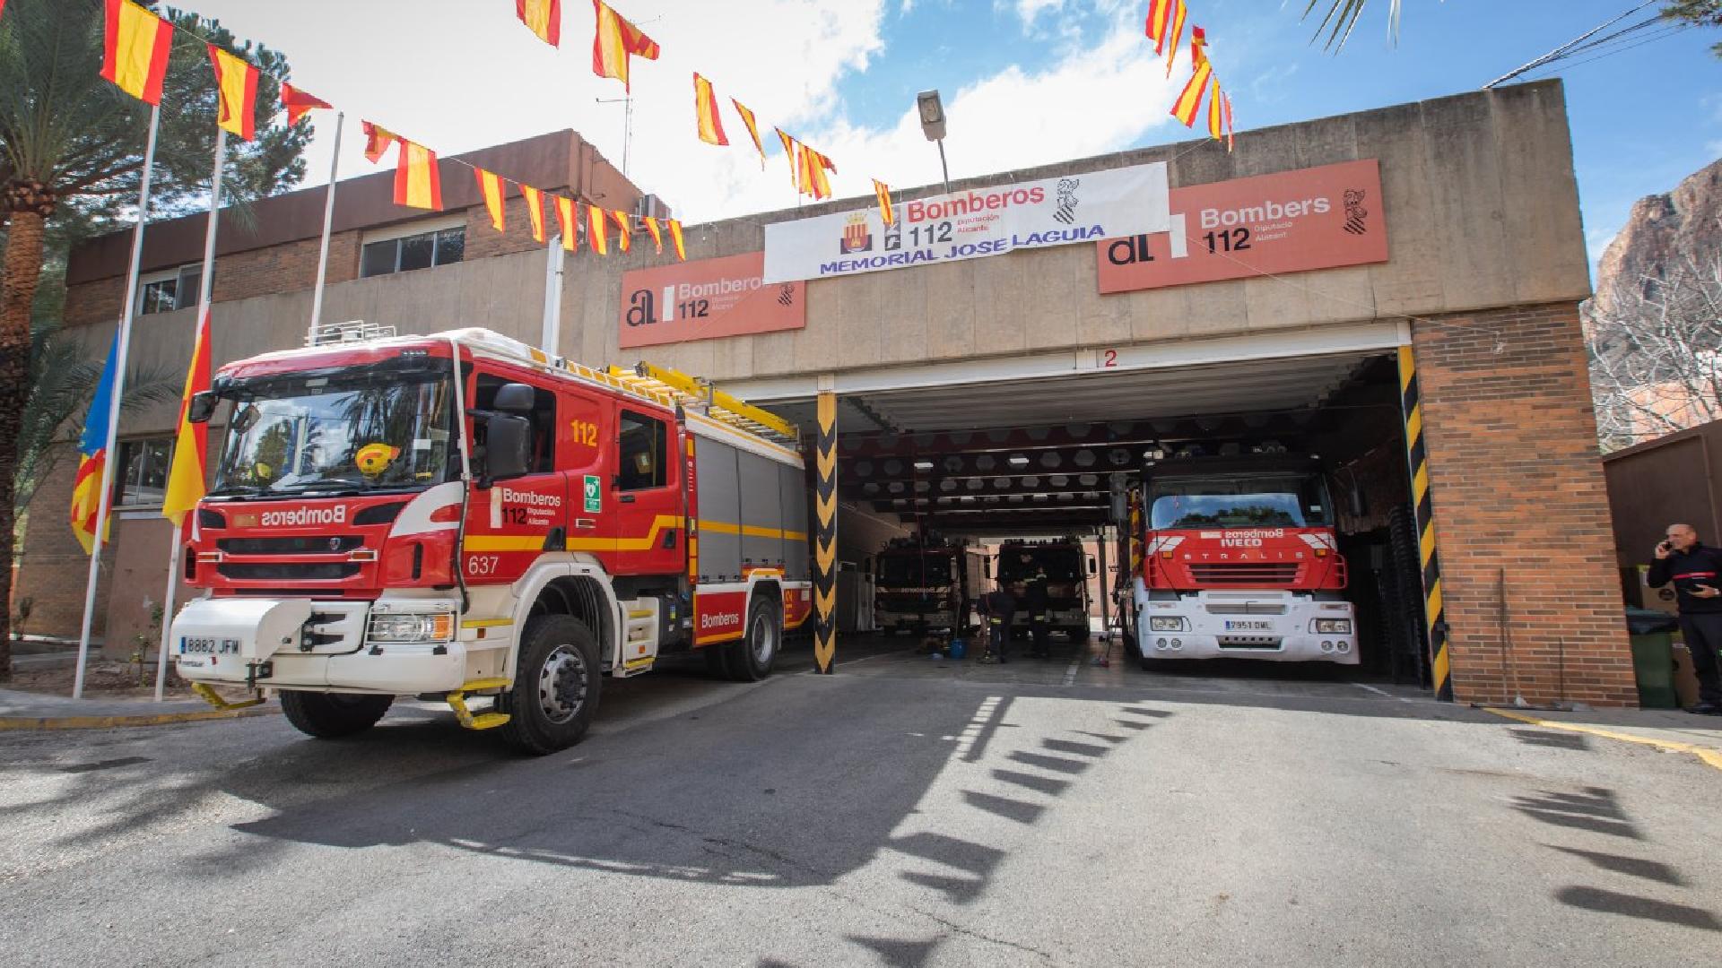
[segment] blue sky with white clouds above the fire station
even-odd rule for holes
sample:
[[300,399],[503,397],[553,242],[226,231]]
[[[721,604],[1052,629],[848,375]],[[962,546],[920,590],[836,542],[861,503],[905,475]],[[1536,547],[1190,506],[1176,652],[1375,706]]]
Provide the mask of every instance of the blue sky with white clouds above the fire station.
[[[350,115],[343,177],[367,174],[356,117],[439,153],[573,127],[623,158],[616,81],[591,71],[592,10],[563,0],[551,48],[510,0],[177,0],[241,38],[284,52],[293,81]],[[1147,0],[615,0],[663,48],[634,60],[627,174],[692,224],[796,203],[771,126],[837,164],[839,196],[878,177],[940,177],[916,91],[945,103],[951,177],[971,177],[1192,136],[1169,114],[1188,62],[1166,78],[1142,36]],[[1638,0],[1405,0],[1397,43],[1372,0],[1338,53],[1310,43],[1305,0],[1188,0],[1233,96],[1238,138],[1273,126],[1477,90],[1610,21]],[[1631,21],[1626,21],[1631,22]],[[1574,165],[1591,260],[1645,195],[1722,157],[1719,29],[1643,31],[1603,57],[1526,79],[1567,86]],[[1634,40],[1636,43],[1636,40]],[[728,109],[753,109],[761,171],[739,117],[730,146],[694,134],[699,71]],[[332,119],[317,121],[307,184],[327,181]],[[1200,126],[1200,122],[1199,122]],[[389,164],[389,162],[384,162]],[[501,172],[508,174],[508,172]]]

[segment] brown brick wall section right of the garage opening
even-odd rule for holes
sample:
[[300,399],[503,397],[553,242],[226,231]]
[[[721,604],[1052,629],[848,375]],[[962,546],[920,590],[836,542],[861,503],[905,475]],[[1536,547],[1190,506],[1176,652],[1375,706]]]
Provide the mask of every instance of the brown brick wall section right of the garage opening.
[[[1596,419],[1570,303],[1412,326],[1453,694],[1636,706]],[[1503,668],[1505,667],[1505,668]]]

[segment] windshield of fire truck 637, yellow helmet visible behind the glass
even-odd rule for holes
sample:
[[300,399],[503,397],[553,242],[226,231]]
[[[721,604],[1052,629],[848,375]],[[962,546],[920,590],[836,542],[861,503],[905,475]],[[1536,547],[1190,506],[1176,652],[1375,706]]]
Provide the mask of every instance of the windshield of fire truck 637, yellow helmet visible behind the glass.
[[446,375],[358,367],[219,391],[232,412],[214,496],[417,489],[449,479]]

